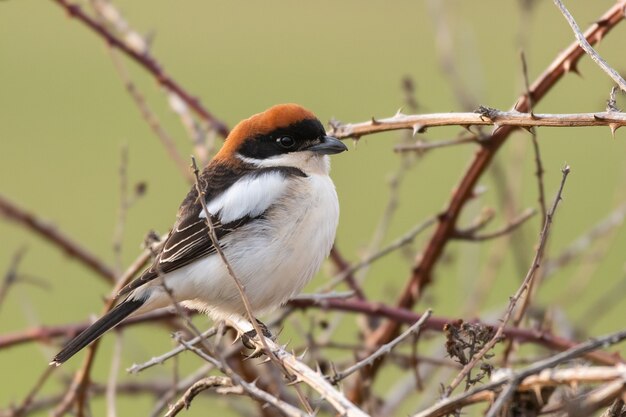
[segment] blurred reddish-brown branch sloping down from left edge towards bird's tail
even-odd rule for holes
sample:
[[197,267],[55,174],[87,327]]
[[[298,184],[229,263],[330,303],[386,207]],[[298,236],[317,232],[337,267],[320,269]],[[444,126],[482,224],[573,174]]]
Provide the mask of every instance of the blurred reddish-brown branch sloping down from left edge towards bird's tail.
[[51,242],[54,246],[63,249],[69,256],[82,262],[109,283],[115,282],[115,271],[108,265],[105,265],[96,255],[58,231],[54,226],[43,222],[34,214],[18,207],[2,195],[0,195],[0,213],[8,219],[30,229],[35,234]]

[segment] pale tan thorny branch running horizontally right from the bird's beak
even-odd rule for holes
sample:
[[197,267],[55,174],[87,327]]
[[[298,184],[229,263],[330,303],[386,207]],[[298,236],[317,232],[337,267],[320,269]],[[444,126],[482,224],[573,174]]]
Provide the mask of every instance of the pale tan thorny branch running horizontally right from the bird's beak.
[[[481,106],[474,113],[430,113],[374,119],[368,122],[335,125],[331,133],[340,139],[358,139],[365,135],[393,130],[421,132],[440,126],[509,126],[509,127],[585,127],[626,125],[626,113],[598,112],[573,114],[533,114],[519,111],[501,111]],[[470,140],[467,140],[470,142]]]

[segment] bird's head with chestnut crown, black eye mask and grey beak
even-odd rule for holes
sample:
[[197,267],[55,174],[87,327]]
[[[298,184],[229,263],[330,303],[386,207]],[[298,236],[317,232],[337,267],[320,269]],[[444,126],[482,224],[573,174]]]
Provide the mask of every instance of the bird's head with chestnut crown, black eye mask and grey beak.
[[326,155],[347,149],[343,142],[326,135],[309,110],[297,104],[279,104],[237,124],[215,159],[260,167],[293,166],[306,172],[327,165]]

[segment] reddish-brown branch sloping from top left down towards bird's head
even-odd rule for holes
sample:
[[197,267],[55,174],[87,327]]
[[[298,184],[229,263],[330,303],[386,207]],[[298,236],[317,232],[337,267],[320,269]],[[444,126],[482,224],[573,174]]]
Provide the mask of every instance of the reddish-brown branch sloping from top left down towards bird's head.
[[80,6],[73,4],[67,0],[53,0],[59,6],[63,7],[67,13],[78,19],[81,23],[91,29],[98,36],[103,38],[112,48],[119,49],[124,54],[128,55],[133,61],[145,68],[150,74],[156,78],[160,85],[178,95],[193,111],[208,122],[212,128],[214,128],[221,136],[228,136],[228,127],[224,122],[217,119],[211,114],[203,105],[200,100],[193,97],[187,90],[180,86],[174,79],[170,78],[165,73],[161,65],[148,54],[141,54],[131,49],[126,43],[119,40],[113,35],[106,27],[102,26],[96,20],[87,15]]

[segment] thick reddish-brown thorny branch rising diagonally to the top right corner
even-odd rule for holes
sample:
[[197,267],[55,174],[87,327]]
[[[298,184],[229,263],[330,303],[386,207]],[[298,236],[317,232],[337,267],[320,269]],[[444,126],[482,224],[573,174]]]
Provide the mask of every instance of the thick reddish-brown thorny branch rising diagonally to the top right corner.
[[[621,2],[611,7],[608,12],[594,23],[585,32],[585,38],[589,43],[595,44],[623,19],[624,3]],[[514,109],[523,113],[528,112],[530,110],[530,101],[532,100],[532,103],[537,103],[567,72],[576,71],[578,60],[583,55],[585,55],[585,52],[579,48],[578,43],[572,43],[530,86],[529,93],[522,95],[517,100]],[[418,256],[412,274],[402,291],[402,295],[397,301],[398,307],[410,309],[421,297],[424,287],[431,281],[432,271],[439,261],[445,246],[454,235],[456,221],[461,210],[465,206],[465,203],[471,198],[478,180],[489,167],[498,149],[500,149],[509,135],[516,129],[517,128],[512,126],[497,127],[491,135],[491,140],[485,141],[482,148],[476,153],[474,160],[467,171],[462,175],[460,183],[455,188],[455,192],[448,203],[447,209],[440,216],[437,229],[430,238],[424,252]],[[389,341],[397,335],[399,327],[400,323],[387,321],[367,339],[367,345],[374,348],[389,343]],[[381,362],[379,361],[374,364],[374,366],[364,370],[363,378],[359,380],[357,386],[351,392],[350,398],[353,401],[356,403],[361,402],[362,390],[360,386],[365,379],[375,375],[380,364]]]

